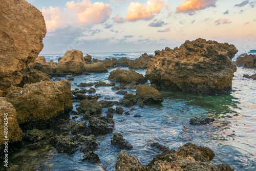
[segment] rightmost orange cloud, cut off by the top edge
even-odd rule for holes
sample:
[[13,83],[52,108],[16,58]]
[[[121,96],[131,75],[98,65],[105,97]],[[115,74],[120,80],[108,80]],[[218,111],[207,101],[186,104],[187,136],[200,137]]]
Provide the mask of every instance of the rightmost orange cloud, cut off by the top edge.
[[217,0],[185,0],[176,8],[176,12],[197,11],[209,7],[216,7],[216,2]]

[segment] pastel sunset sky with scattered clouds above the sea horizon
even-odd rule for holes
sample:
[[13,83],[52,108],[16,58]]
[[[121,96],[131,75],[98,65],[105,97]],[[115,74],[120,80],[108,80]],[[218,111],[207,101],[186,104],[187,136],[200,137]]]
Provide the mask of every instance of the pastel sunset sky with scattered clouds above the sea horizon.
[[256,49],[256,1],[27,1],[46,21],[40,54],[154,52],[199,37]]

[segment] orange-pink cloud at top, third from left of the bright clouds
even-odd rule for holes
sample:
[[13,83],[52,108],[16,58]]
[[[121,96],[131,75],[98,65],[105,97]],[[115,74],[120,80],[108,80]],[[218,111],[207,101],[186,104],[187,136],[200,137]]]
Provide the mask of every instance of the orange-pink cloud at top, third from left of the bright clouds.
[[125,19],[133,22],[140,19],[152,19],[155,14],[161,11],[163,6],[164,3],[162,0],[149,0],[144,5],[132,2],[128,7],[128,13]]

